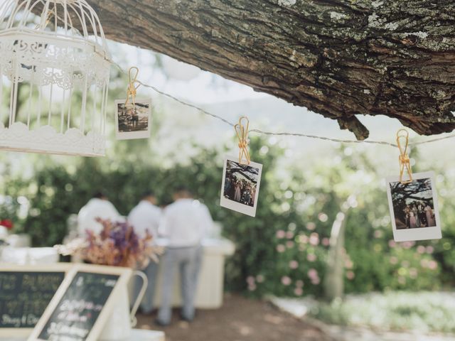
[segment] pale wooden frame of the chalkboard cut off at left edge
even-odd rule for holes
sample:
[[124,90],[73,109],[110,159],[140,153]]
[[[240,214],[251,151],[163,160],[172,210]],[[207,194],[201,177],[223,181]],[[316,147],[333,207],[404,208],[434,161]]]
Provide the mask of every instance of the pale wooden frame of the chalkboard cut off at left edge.
[[[0,264],[1,272],[65,272],[73,267],[71,263],[57,263],[49,265],[18,265],[18,264]],[[65,281],[65,278],[63,279]],[[62,282],[63,283],[63,282]],[[56,291],[57,292],[57,291]],[[0,328],[0,337],[28,337],[33,328]]]

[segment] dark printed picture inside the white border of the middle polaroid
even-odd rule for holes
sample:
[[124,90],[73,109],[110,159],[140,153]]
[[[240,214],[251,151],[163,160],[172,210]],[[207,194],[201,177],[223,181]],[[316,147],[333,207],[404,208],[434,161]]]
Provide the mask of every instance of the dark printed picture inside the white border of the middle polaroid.
[[227,161],[224,197],[250,207],[255,206],[259,169]]

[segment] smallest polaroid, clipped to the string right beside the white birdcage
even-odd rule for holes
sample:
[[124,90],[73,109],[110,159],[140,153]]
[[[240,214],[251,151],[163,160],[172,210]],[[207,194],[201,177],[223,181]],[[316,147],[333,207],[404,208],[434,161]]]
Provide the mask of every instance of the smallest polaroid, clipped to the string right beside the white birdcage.
[[115,136],[117,140],[149,139],[151,99],[136,99],[136,105],[124,99],[115,101]]

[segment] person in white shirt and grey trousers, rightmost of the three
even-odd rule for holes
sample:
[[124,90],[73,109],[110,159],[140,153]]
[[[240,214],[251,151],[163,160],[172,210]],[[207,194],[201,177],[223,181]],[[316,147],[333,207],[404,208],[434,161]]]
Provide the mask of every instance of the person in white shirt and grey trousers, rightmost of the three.
[[186,188],[176,190],[173,198],[175,202],[166,207],[159,227],[159,234],[168,239],[168,247],[163,256],[163,293],[156,319],[158,325],[171,323],[173,274],[176,269],[181,276],[181,318],[188,322],[193,320],[194,296],[202,258],[201,241],[213,224],[208,208],[194,200]]

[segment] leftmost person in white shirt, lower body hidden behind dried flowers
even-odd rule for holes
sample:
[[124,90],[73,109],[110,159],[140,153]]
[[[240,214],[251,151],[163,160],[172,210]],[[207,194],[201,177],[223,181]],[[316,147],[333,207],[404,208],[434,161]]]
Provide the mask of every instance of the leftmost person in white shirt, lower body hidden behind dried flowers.
[[112,222],[124,220],[112,202],[109,202],[106,195],[101,192],[93,195],[77,215],[77,233],[80,237],[85,237],[87,230],[91,230],[95,234],[102,231],[102,224],[96,221],[97,218]]

